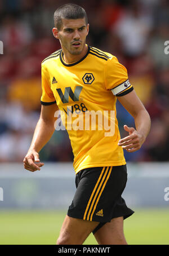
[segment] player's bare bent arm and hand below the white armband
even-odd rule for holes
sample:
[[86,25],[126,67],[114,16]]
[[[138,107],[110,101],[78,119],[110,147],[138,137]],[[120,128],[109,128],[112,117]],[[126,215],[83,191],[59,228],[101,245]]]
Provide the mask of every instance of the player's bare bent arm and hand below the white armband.
[[135,130],[134,127],[124,125],[124,130],[129,135],[119,140],[118,145],[126,149],[127,152],[135,152],[141,148],[146,136],[149,134],[151,125],[150,116],[134,90],[117,98],[123,107],[134,117],[136,126]]

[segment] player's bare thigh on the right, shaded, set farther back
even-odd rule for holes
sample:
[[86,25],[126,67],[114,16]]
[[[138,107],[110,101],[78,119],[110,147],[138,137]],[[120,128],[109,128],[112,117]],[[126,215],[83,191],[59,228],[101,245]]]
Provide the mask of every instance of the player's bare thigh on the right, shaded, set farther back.
[[113,218],[95,233],[98,244],[127,245],[123,232],[123,217]]

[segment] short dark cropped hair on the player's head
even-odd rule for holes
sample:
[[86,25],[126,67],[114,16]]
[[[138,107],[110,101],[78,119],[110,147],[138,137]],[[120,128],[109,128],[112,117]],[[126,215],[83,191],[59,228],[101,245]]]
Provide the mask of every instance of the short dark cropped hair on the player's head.
[[74,3],[68,3],[66,5],[62,5],[54,13],[54,24],[55,28],[58,30],[61,29],[62,19],[83,19],[85,18],[87,24],[87,15],[86,11],[78,5],[74,5]]

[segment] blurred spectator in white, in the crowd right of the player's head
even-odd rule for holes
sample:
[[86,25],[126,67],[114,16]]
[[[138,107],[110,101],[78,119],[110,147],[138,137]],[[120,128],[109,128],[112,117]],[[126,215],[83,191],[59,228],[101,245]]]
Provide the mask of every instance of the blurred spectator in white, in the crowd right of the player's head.
[[134,58],[145,51],[151,28],[152,17],[146,15],[138,1],[132,1],[121,19],[113,25],[112,33],[121,38],[124,54]]

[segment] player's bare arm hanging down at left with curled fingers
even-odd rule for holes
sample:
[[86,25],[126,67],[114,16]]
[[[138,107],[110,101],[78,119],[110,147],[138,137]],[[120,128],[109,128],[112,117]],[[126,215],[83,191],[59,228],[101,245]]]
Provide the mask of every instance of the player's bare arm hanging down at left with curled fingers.
[[55,131],[54,123],[57,118],[54,117],[54,114],[57,110],[58,107],[56,104],[42,105],[41,116],[37,126],[35,127],[32,143],[23,161],[24,168],[26,170],[41,170],[40,167],[44,165],[40,162],[38,153],[45,146],[48,140],[50,140]]

